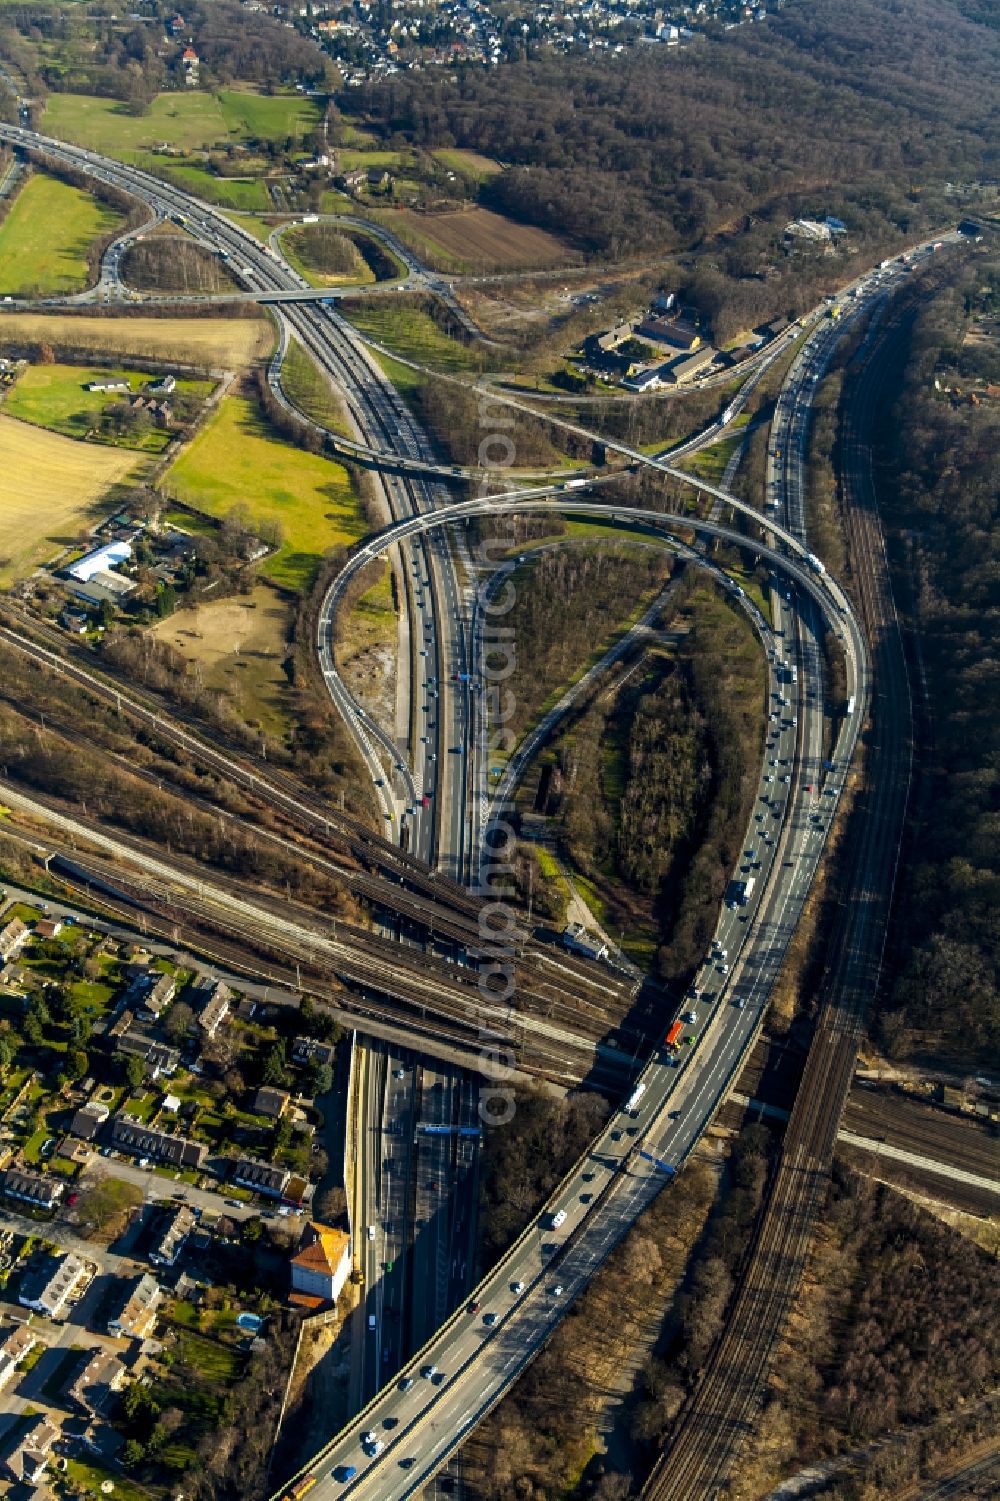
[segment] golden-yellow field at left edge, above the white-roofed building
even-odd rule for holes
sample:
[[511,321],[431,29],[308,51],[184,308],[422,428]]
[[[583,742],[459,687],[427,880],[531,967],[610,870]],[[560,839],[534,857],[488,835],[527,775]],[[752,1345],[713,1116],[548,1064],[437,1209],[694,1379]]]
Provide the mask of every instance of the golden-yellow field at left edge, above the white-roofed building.
[[8,476],[0,503],[0,585],[56,557],[102,513],[101,497],[137,458],[122,449],[84,447],[72,438],[0,416]]

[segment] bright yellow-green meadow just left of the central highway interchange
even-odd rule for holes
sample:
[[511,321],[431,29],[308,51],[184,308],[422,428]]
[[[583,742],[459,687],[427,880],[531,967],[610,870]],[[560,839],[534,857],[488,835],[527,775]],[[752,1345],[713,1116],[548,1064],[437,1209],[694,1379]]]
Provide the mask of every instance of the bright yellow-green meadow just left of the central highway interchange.
[[261,572],[293,590],[311,584],[324,552],[365,531],[347,471],[282,441],[242,396],[219,404],[162,488],[210,516],[246,506],[254,518],[276,521],[284,545]]

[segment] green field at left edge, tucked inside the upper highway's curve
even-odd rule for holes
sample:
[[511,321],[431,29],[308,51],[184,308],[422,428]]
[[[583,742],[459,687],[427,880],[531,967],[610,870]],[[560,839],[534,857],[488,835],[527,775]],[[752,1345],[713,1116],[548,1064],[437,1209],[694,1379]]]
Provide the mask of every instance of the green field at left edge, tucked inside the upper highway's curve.
[[87,192],[30,177],[0,225],[0,293],[62,293],[87,285],[87,251],[123,219]]

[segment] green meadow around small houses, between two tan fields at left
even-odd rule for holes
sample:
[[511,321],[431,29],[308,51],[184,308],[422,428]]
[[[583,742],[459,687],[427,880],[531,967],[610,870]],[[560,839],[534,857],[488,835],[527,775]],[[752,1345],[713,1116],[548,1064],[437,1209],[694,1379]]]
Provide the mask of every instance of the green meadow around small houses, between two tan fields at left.
[[[120,398],[104,390],[84,390],[90,380],[128,380],[132,390],[141,390],[156,377],[129,369],[84,369],[80,365],[32,365],[18,378],[3,402],[11,417],[33,422],[68,438],[86,438],[101,411],[108,402]],[[212,392],[209,380],[179,380],[177,395],[207,398]],[[141,449],[146,453],[162,453],[170,443],[170,432],[153,429],[141,438],[122,438],[114,447]]]

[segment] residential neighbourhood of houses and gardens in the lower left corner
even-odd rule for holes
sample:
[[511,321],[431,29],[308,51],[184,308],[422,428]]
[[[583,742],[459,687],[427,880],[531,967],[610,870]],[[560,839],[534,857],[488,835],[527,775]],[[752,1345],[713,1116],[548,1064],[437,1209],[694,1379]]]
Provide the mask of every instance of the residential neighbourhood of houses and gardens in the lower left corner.
[[155,947],[0,898],[0,1484],[35,1496],[167,1477],[188,1403],[354,1301],[336,1025]]

